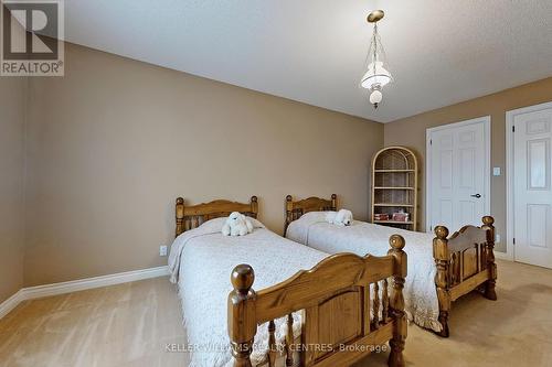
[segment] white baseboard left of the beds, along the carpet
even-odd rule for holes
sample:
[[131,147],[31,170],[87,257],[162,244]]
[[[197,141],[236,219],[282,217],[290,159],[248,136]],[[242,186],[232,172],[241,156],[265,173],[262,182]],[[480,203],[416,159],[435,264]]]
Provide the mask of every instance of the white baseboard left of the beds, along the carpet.
[[43,296],[51,296],[51,295],[84,291],[87,289],[135,282],[144,279],[166,277],[168,274],[169,270],[167,267],[158,267],[158,268],[119,272],[102,277],[72,280],[62,283],[23,288],[19,290],[19,292],[10,296],[8,300],[0,303],[0,319],[6,316],[20,302],[25,300],[34,300]]

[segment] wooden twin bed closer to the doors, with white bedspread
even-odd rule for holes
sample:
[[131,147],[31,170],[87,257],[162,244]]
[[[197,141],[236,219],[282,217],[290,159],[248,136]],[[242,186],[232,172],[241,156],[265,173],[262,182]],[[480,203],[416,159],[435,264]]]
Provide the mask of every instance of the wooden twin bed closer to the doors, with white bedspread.
[[408,277],[404,289],[408,319],[420,326],[448,337],[452,302],[473,290],[496,300],[495,219],[482,218],[482,226],[465,226],[448,237],[443,226],[431,234],[384,227],[354,220],[339,227],[326,222],[323,212],[336,211],[330,199],[286,197],[286,237],[318,250],[336,253],[380,255],[390,234],[404,237],[408,253]]

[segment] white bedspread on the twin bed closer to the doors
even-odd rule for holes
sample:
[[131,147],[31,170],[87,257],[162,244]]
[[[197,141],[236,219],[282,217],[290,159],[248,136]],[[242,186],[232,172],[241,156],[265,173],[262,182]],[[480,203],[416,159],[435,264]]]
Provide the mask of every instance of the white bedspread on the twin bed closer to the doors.
[[348,251],[359,256],[384,256],[390,249],[389,237],[394,234],[403,236],[406,241],[404,250],[408,256],[408,276],[404,284],[404,300],[408,320],[439,332],[443,326],[438,322],[433,235],[358,220],[351,226],[340,227],[327,223],[326,213],[311,212],[290,223],[286,237],[329,253]]

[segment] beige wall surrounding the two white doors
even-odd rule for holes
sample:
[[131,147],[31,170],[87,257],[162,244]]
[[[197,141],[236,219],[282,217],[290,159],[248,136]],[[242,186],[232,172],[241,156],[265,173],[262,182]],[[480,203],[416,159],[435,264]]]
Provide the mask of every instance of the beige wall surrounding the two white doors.
[[502,169],[501,176],[491,179],[491,215],[496,218],[497,230],[502,238],[502,242],[497,244],[497,249],[506,251],[506,111],[551,100],[552,78],[548,78],[385,125],[385,145],[407,145],[415,149],[422,158],[422,230],[425,228],[425,130],[490,115],[491,166]]

